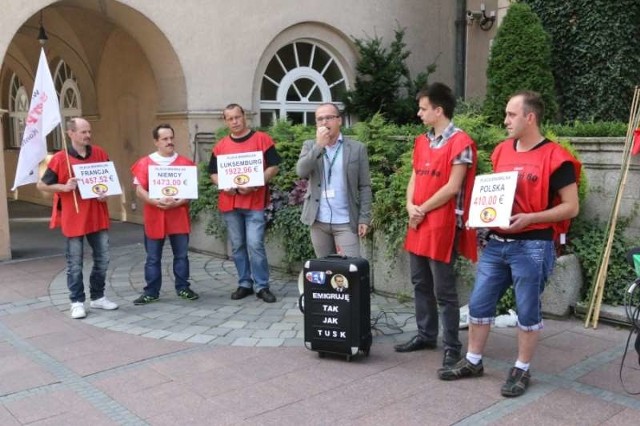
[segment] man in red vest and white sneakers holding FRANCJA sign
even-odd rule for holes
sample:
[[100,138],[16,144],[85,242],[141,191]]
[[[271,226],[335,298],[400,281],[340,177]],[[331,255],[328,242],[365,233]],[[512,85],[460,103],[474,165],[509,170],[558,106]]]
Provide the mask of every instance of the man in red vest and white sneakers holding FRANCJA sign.
[[[51,158],[47,170],[37,184],[40,191],[53,193],[53,209],[50,228],[60,226],[67,238],[67,287],[71,300],[71,318],[87,316],[84,302],[82,276],[84,240],[91,246],[93,267],[89,276],[89,306],[94,309],[117,309],[118,305],[104,295],[107,268],[109,267],[109,210],[107,197],[82,199],[77,191],[77,178],[71,166],[74,164],[109,161],[107,153],[91,144],[91,125],[83,118],[71,118],[66,123],[71,141],[66,151],[58,151]],[[77,202],[77,210],[76,210]]]

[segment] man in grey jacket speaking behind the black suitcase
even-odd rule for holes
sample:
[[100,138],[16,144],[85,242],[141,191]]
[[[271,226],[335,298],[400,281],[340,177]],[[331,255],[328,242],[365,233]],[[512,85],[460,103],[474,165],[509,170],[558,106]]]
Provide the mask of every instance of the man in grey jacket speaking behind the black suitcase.
[[316,139],[305,141],[296,164],[309,180],[302,223],[311,226],[317,257],[360,256],[371,224],[371,176],[367,147],[342,136],[342,117],[331,103],[316,109]]

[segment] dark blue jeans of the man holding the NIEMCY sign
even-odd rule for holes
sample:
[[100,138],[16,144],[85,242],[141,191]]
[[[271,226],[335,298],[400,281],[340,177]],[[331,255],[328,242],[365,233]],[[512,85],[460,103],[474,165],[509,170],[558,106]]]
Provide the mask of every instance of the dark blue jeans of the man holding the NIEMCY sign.
[[[173,252],[173,275],[176,283],[176,293],[189,288],[189,234],[172,234],[168,236]],[[166,238],[154,240],[144,236],[144,249],[147,260],[144,263],[144,294],[160,296],[162,287],[162,249]]]

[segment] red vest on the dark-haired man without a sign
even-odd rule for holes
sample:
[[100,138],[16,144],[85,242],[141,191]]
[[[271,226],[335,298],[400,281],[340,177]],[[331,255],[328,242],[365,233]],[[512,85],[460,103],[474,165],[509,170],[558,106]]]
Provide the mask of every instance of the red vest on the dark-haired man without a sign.
[[[413,204],[424,203],[449,181],[453,160],[467,147],[471,147],[473,152],[473,164],[467,169],[463,188],[465,194],[463,222],[466,223],[469,217],[473,180],[476,175],[477,150],[473,140],[463,131],[455,133],[439,149],[432,149],[425,135],[416,138],[413,149],[415,172]],[[404,248],[413,254],[449,263],[455,235],[456,197],[452,197],[442,206],[428,212],[418,229],[408,228]],[[460,230],[457,250],[466,258],[472,261],[477,260],[474,229]]]

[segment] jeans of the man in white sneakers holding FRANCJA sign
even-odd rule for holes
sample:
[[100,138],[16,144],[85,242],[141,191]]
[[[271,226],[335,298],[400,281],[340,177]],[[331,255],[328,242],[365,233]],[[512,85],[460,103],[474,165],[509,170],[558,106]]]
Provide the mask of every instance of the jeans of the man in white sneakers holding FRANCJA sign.
[[84,278],[82,276],[84,260],[84,239],[91,246],[93,267],[89,276],[89,296],[97,300],[104,296],[105,279],[109,267],[109,233],[102,230],[81,237],[67,238],[67,287],[72,303],[84,302]]

